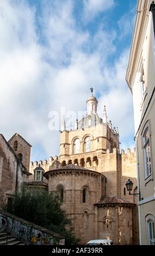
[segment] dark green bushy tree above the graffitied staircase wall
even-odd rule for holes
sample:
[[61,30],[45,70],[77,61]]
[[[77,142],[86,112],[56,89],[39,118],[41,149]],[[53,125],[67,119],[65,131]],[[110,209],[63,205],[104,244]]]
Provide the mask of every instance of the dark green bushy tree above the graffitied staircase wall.
[[61,209],[59,197],[47,191],[27,190],[23,186],[20,193],[15,193],[7,211],[29,222],[40,225],[65,237],[66,245],[76,245],[80,239],[74,235],[71,220]]

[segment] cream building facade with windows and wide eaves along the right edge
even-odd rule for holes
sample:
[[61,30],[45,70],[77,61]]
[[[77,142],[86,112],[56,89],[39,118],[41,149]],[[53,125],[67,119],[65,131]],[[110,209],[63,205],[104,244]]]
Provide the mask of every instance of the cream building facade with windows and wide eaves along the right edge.
[[133,95],[141,245],[155,245],[155,2],[139,0],[126,81]]

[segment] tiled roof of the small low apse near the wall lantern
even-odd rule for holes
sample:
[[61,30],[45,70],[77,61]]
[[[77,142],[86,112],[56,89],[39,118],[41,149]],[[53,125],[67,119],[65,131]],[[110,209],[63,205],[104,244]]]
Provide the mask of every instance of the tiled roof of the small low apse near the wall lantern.
[[117,197],[101,197],[100,201],[96,203],[98,205],[102,204],[132,204],[131,202],[125,201],[124,199]]

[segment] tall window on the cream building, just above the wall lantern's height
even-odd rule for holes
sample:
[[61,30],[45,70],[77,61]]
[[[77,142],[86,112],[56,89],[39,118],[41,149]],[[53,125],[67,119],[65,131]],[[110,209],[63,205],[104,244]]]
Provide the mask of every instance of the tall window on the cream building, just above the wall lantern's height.
[[150,132],[148,127],[146,127],[143,133],[143,149],[144,149],[144,164],[145,164],[145,178],[147,178],[151,173],[151,152],[150,152]]

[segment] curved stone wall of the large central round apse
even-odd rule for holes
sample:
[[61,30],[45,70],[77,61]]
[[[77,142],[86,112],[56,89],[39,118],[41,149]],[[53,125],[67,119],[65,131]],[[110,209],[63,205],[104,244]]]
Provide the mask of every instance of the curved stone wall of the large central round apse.
[[[59,186],[64,188],[62,209],[72,219],[82,244],[95,238],[94,204],[105,195],[105,176],[89,170],[51,170],[48,177],[49,192],[56,192]],[[86,188],[85,203],[82,203],[83,188]]]

